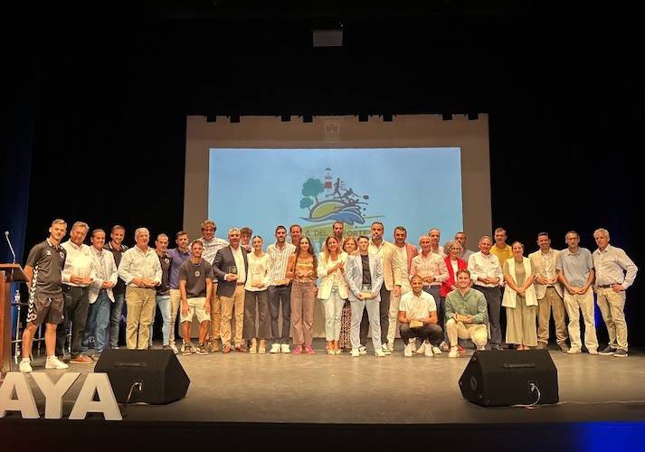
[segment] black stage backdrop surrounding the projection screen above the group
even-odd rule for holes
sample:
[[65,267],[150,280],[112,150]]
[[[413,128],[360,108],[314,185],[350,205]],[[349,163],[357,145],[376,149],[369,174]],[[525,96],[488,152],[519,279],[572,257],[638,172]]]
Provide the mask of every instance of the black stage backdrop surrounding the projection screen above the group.
[[[145,225],[172,243],[185,115],[487,112],[492,218],[509,241],[528,252],[549,231],[562,249],[574,229],[593,250],[605,227],[642,265],[637,2],[160,4],[16,16],[0,222],[24,258],[57,217],[123,224],[128,244]],[[343,48],[311,47],[312,28],[339,22]],[[640,278],[628,292],[631,344],[645,344]]]

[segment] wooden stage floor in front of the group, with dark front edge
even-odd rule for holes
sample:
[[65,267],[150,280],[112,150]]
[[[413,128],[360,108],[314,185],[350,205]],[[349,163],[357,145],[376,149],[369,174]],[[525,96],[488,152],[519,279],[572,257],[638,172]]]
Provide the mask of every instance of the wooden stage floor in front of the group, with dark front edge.
[[[82,426],[83,432],[93,435],[91,432],[100,427],[125,438],[128,432],[138,435],[142,428],[153,428],[150,444],[163,444],[181,432],[192,432],[194,440],[201,441],[202,436],[225,431],[234,433],[237,442],[232,438],[225,441],[250,446],[258,438],[288,442],[309,438],[323,444],[331,433],[364,438],[375,445],[410,435],[421,435],[420,440],[429,436],[433,444],[448,445],[457,435],[473,445],[498,438],[500,444],[510,446],[516,440],[530,439],[536,448],[543,449],[545,445],[580,446],[580,438],[570,443],[572,431],[605,439],[609,438],[605,431],[629,438],[645,434],[645,423],[641,423],[645,419],[645,353],[631,351],[630,357],[621,359],[552,350],[561,402],[528,410],[483,408],[461,397],[457,381],[471,352],[459,359],[449,359],[447,353],[405,358],[403,344],[397,340],[392,356],[352,358],[348,353],[327,355],[320,340],[315,346],[318,353],[313,356],[178,355],[191,380],[183,400],[165,406],[130,405],[120,422],[106,422],[101,416],[82,422],[33,421],[11,413],[0,419],[0,430],[3,436],[17,437],[23,428],[34,425],[43,431],[47,426],[52,431]],[[39,364],[43,363],[36,361],[34,372],[43,372]],[[71,365],[70,370],[85,373],[92,366]],[[48,372],[52,378],[62,374]],[[63,418],[71,410],[83,378],[65,396]],[[32,384],[43,411],[43,396]],[[242,432],[250,436],[240,435]],[[531,444],[526,447],[530,449]]]

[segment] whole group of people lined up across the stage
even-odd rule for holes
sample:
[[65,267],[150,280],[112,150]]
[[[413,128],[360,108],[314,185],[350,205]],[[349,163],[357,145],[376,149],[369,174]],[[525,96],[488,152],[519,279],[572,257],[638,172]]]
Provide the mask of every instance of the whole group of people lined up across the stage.
[[[201,230],[202,237],[193,241],[185,231],[177,232],[176,247],[168,250],[166,234],[159,234],[151,248],[149,231],[139,228],[135,246],[128,249],[122,226],[111,229],[106,243],[106,231],[90,232],[88,224],[77,221],[70,239],[62,242],[67,224],[53,221],[49,237],[33,247],[25,265],[30,293],[21,372],[33,370],[33,335],[43,324],[47,369],[68,367],[62,357],[70,328],[70,363],[93,363],[105,348],[118,348],[124,304],[128,349],[152,346],[158,306],[162,346],[175,353],[208,354],[221,344],[223,353],[314,354],[316,298],[324,306],[331,355],[341,353],[343,335],[349,336],[352,356],[367,353],[368,332],[376,356],[391,354],[397,325],[404,356],[443,351],[458,357],[460,338],[478,349],[501,350],[501,306],[507,312],[506,343],[518,350],[546,347],[553,314],[560,349],[581,353],[582,311],[588,353],[628,354],[625,290],[638,268],[623,250],[609,245],[604,229],[593,233],[598,245],[593,254],[579,247],[575,231],[567,232],[568,248],[562,251],[553,250],[548,233],[540,232],[539,250],[528,257],[523,244],[506,243],[501,228],[494,240],[481,237],[479,251],[473,252],[466,249],[464,232],[441,246],[441,231],[432,229],[417,249],[406,241],[403,226],[394,229],[390,242],[380,221],[372,223],[370,237],[346,235],[337,221],[318,255],[298,224],[289,228],[290,243],[287,228],[276,227],[275,242],[266,250],[250,228],[232,228],[228,240],[215,237],[212,220],[204,221]],[[84,243],[89,232],[90,246]],[[602,351],[593,319],[594,292],[610,338]],[[196,345],[191,342],[195,316]]]

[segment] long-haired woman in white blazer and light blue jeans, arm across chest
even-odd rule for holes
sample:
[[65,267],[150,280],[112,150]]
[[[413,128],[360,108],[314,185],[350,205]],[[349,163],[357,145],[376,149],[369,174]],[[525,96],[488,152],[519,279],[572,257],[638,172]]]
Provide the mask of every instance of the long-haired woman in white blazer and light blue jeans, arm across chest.
[[341,353],[338,339],[340,338],[340,317],[347,299],[346,260],[347,253],[340,249],[337,238],[333,235],[327,237],[318,255],[318,277],[320,277],[318,298],[325,306],[327,354]]

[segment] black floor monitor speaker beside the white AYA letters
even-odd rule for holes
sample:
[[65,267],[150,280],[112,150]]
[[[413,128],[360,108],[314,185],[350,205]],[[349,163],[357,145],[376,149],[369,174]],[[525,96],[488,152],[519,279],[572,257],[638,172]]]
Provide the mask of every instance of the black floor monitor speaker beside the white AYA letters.
[[[105,350],[94,372],[106,372],[119,403],[166,404],[185,397],[190,380],[172,350]],[[140,391],[136,384],[141,382]]]

